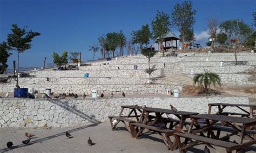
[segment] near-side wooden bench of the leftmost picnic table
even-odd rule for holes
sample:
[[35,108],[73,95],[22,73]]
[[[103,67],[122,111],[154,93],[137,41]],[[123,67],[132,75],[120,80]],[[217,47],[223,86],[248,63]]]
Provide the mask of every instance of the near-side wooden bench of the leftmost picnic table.
[[[135,127],[139,127],[140,129],[138,130],[138,128],[135,128]],[[161,138],[164,140],[164,143],[165,143],[167,149],[168,150],[173,149],[173,143],[170,139],[170,136],[173,135],[173,133],[175,132],[174,130],[160,129],[158,127],[149,126],[149,125],[139,123],[139,122],[130,122],[130,131],[131,131],[132,137],[139,138],[144,129],[156,131],[161,136]],[[162,133],[164,133],[164,135]]]

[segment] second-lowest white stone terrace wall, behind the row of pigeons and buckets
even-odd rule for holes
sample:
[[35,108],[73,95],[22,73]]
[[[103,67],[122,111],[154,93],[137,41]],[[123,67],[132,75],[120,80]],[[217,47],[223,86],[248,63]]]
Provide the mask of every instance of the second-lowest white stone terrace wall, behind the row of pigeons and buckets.
[[[161,84],[130,84],[130,85],[114,85],[114,84],[22,84],[21,88],[34,88],[39,93],[45,92],[46,88],[52,89],[52,92],[60,93],[77,93],[82,95],[91,94],[93,89],[106,94],[166,94],[166,88],[179,89],[182,91],[182,85],[161,85]],[[15,84],[0,84],[0,92],[14,92]]]

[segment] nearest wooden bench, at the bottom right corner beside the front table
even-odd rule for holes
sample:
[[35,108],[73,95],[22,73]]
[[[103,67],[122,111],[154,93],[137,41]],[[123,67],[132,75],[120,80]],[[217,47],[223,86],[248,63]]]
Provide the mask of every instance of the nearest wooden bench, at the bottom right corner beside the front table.
[[[247,146],[250,146],[250,145],[256,143],[256,140],[252,140],[252,141],[248,141],[248,142],[243,143],[243,144],[240,145],[240,144],[233,143],[233,142],[226,142],[226,141],[222,141],[222,140],[216,140],[216,139],[213,139],[213,138],[208,138],[208,137],[204,137],[204,136],[200,136],[200,135],[196,135],[196,134],[190,134],[190,133],[174,133],[173,135],[177,139],[179,152],[184,152],[186,148],[191,147],[193,145],[196,145],[200,142],[206,143],[206,144],[217,145],[219,147],[226,148],[226,152],[232,152],[232,150],[239,151],[240,149],[242,149],[244,147],[247,147]],[[196,140],[196,142],[192,142],[188,145],[185,144],[185,146],[183,146],[181,144],[180,137],[184,137],[186,139],[188,138],[188,139],[191,139],[191,140]]]

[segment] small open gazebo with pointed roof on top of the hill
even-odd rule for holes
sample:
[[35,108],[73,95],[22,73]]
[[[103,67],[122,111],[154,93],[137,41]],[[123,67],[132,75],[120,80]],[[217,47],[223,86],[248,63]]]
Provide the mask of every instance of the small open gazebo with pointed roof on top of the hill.
[[[159,40],[160,38],[158,37],[157,38],[157,41]],[[175,40],[176,42],[176,46],[173,46],[173,40]],[[177,40],[179,40],[179,38],[174,34],[172,33],[171,31],[169,33],[166,34],[166,36],[164,37],[164,41],[163,41],[163,46],[164,46],[164,51],[167,51],[169,50],[170,48],[174,48],[177,50],[178,48],[178,45],[177,45]],[[158,44],[158,47],[160,47],[160,44]],[[158,48],[159,49],[159,48]]]

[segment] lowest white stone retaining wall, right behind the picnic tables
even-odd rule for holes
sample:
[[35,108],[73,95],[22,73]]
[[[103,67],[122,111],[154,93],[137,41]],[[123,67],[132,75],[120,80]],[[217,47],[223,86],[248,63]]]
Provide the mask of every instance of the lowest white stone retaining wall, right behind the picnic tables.
[[[208,103],[242,103],[248,104],[246,97],[207,97],[207,98],[103,98],[76,100],[42,100],[42,99],[0,99],[0,127],[67,127],[86,122],[105,122],[109,115],[118,115],[122,105],[146,105],[147,107],[170,108],[206,113]],[[248,108],[244,108],[248,110]],[[127,114],[125,110],[124,114]],[[242,113],[229,107],[227,112]],[[217,107],[212,107],[212,113]],[[171,117],[171,116],[170,116]]]

